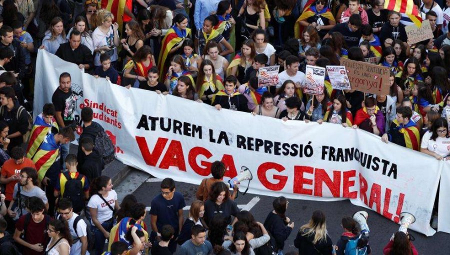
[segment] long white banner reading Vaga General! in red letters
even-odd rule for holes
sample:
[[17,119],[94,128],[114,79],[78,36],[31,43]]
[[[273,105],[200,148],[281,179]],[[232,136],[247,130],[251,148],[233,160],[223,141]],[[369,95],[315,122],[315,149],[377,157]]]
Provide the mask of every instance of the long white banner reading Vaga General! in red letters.
[[[75,118],[80,108],[91,107],[94,120],[114,138],[117,158],[157,178],[199,184],[210,174],[211,162],[221,160],[225,179],[236,176],[242,165],[250,169],[249,193],[349,199],[395,222],[407,211],[416,218],[411,229],[435,232],[429,220],[440,173],[450,172],[447,162],[386,144],[360,129],[217,111],[172,95],[126,89],[82,73],[45,50],[39,50],[36,66],[35,91],[40,92],[34,115],[51,101],[59,74],[71,73],[72,89],[80,95]],[[442,203],[439,207],[450,206],[448,199]],[[439,216],[439,224],[450,226],[444,219]]]

